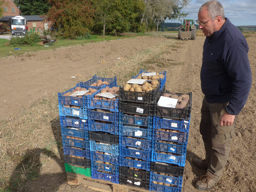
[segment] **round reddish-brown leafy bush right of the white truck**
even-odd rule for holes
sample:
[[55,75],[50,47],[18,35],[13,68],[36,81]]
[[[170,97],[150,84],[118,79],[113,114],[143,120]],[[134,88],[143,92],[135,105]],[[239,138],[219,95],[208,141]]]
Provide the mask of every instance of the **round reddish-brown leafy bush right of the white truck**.
[[49,0],[47,20],[63,38],[75,39],[90,31],[95,10],[87,0]]

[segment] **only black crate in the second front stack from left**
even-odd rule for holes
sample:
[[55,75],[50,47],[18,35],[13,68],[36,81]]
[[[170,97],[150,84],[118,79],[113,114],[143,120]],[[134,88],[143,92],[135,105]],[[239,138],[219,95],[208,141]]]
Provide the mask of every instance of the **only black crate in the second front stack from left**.
[[89,131],[89,140],[118,145],[119,135],[113,135],[106,132]]

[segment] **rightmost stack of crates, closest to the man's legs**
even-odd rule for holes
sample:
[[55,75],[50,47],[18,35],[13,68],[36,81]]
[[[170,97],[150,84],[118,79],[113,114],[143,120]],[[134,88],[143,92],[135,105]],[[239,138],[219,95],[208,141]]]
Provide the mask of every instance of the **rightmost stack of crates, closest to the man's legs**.
[[183,109],[155,105],[150,191],[181,192],[192,104],[192,93],[188,95],[189,105]]

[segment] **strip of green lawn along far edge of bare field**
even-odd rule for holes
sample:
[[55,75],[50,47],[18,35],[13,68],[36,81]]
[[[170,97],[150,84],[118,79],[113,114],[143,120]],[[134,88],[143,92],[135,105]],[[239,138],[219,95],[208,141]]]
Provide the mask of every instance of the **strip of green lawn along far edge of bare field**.
[[[136,36],[142,36],[145,34],[136,34]],[[12,45],[4,45],[4,43],[9,42],[9,40],[1,39],[0,36],[0,57],[5,57],[9,55],[19,55],[24,54],[28,52],[37,52],[42,50],[49,50],[49,49],[56,49],[60,47],[67,47],[70,45],[78,45],[78,44],[87,44],[92,42],[101,42],[101,41],[110,41],[110,40],[116,40],[116,39],[124,39],[124,38],[132,38],[136,36],[110,36],[106,35],[105,37],[100,35],[92,35],[90,39],[82,39],[82,40],[75,40],[75,39],[60,39],[57,40],[52,45],[49,45],[49,47],[45,47],[44,45],[35,45],[35,46],[29,46],[29,45],[20,45],[20,46],[12,46]],[[48,45],[48,44],[45,44]],[[14,48],[21,48],[20,50],[15,50]]]

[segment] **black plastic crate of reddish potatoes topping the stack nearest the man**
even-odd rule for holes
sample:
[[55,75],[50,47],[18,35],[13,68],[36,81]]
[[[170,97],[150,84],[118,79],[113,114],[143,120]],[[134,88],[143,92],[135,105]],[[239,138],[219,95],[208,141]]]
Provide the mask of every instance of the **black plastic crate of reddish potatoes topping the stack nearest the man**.
[[[164,93],[170,93],[169,91],[161,92],[161,95]],[[181,93],[175,93],[176,95],[182,95]],[[192,104],[192,92],[187,93],[189,95],[189,106],[184,109],[179,108],[168,108],[161,107],[157,105],[159,98],[157,98],[155,107],[154,107],[154,116],[174,118],[174,119],[189,119],[191,114],[191,104]],[[160,95],[160,96],[161,96]]]

